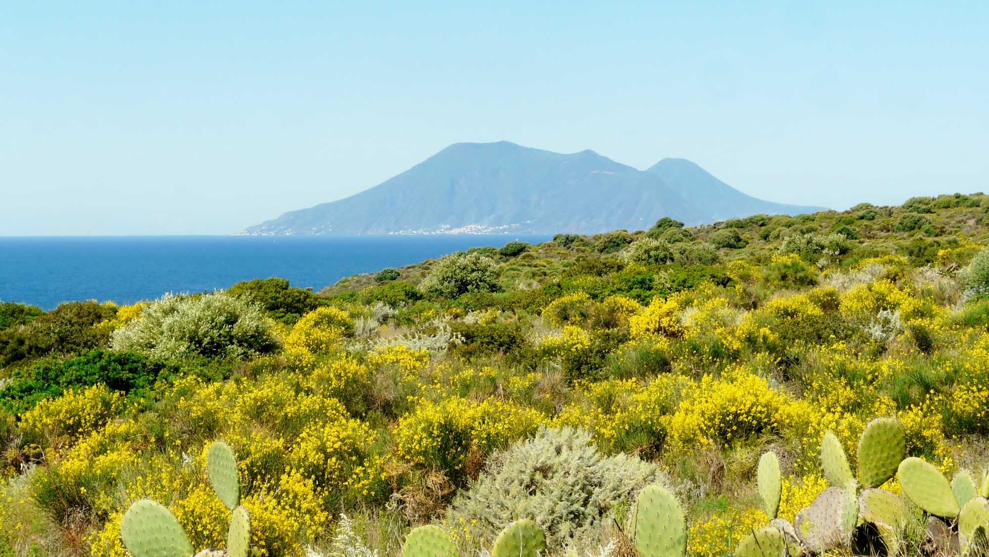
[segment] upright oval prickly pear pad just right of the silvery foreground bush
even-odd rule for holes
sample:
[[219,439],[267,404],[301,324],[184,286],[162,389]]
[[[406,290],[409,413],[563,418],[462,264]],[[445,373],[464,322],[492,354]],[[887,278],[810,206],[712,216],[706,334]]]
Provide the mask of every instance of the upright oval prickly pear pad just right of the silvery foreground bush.
[[646,486],[639,492],[632,519],[632,540],[640,557],[686,554],[686,518],[666,488]]

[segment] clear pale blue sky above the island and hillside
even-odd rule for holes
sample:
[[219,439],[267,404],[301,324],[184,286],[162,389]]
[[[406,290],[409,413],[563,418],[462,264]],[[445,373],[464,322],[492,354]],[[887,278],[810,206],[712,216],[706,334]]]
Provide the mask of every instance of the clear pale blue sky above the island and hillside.
[[237,232],[502,139],[989,191],[989,3],[0,0],[0,235]]

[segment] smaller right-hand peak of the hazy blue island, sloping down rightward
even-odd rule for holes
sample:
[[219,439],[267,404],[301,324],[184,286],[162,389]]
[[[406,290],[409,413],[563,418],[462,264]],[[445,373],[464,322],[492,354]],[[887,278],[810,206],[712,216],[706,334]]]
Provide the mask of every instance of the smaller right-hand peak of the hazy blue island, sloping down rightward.
[[716,221],[740,219],[760,213],[800,215],[826,209],[757,199],[729,186],[685,158],[664,158],[647,168],[646,172],[662,178],[680,197]]

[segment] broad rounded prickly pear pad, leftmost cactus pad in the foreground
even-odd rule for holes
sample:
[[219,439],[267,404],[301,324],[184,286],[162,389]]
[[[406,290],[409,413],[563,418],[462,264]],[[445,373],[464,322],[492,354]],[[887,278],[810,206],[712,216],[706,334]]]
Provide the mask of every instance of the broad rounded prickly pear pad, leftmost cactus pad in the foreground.
[[175,515],[149,499],[135,502],[124,513],[121,538],[135,557],[189,557],[194,553]]

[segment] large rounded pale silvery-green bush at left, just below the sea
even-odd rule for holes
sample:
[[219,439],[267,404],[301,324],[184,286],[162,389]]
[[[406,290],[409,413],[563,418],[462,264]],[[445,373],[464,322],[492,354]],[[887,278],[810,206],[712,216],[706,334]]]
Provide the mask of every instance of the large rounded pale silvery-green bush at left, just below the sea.
[[275,347],[274,324],[253,303],[224,291],[166,294],[114,331],[113,347],[152,357],[241,357]]

